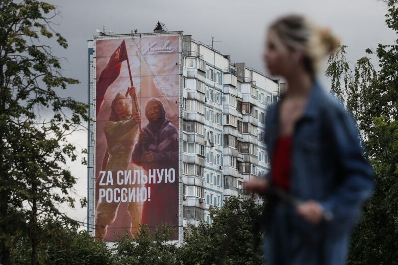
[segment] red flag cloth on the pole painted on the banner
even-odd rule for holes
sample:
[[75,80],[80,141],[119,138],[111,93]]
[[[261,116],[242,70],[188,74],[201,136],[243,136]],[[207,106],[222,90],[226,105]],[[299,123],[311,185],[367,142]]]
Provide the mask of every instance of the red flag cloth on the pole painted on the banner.
[[108,87],[116,80],[120,74],[121,63],[127,60],[127,49],[126,42],[123,40],[119,47],[113,52],[109,59],[107,67],[99,75],[99,79],[96,84],[96,114],[101,109],[102,103],[104,102],[104,95]]

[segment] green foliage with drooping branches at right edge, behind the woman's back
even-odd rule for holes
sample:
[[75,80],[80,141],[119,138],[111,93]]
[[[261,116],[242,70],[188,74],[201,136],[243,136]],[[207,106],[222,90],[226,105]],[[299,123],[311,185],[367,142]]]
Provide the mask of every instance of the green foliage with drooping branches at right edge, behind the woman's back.
[[[384,3],[386,24],[398,33],[397,1]],[[377,175],[376,190],[352,235],[348,264],[398,264],[398,39],[366,53],[350,65],[342,46],[326,71],[332,94],[357,120],[365,155]],[[375,55],[380,70],[371,64],[369,57]]]

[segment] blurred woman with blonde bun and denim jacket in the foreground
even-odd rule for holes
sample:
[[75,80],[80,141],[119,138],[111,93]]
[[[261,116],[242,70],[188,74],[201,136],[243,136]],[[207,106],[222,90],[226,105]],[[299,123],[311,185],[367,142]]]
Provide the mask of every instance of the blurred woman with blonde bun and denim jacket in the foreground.
[[[322,60],[338,46],[328,29],[300,15],[276,20],[267,32],[264,61],[288,89],[267,110],[270,173],[245,183],[267,198],[267,265],[343,264],[350,230],[374,188],[353,119],[317,81]],[[275,191],[300,203],[285,203]]]

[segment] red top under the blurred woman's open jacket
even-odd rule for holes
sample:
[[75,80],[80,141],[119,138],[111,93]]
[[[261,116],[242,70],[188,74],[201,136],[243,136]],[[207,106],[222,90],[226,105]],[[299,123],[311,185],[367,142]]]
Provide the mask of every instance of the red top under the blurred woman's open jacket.
[[272,182],[277,187],[288,190],[291,169],[291,136],[279,137],[275,144],[272,161]]

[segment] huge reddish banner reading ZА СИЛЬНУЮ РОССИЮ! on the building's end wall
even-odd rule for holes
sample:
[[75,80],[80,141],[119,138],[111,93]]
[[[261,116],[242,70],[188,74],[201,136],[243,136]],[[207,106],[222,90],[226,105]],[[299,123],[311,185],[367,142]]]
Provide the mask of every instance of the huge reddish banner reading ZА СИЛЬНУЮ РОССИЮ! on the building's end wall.
[[179,51],[180,35],[95,41],[95,234],[107,242],[161,223],[178,239]]

